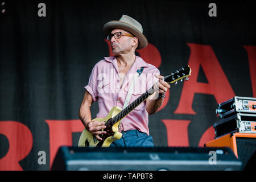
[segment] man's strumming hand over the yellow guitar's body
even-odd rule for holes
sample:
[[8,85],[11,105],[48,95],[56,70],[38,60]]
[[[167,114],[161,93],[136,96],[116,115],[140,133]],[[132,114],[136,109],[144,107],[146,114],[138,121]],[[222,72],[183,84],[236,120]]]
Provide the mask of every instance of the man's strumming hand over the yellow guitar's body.
[[86,130],[90,131],[98,140],[102,140],[100,137],[101,134],[106,134],[106,131],[102,131],[102,129],[105,129],[105,122],[98,122],[98,121],[89,121],[85,122],[85,128]]

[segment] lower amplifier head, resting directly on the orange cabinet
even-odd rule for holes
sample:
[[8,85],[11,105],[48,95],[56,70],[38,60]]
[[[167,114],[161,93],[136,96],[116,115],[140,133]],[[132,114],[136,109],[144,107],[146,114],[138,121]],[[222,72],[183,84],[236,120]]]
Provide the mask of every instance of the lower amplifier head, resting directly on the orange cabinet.
[[256,134],[256,114],[237,113],[213,124],[215,139],[229,133]]

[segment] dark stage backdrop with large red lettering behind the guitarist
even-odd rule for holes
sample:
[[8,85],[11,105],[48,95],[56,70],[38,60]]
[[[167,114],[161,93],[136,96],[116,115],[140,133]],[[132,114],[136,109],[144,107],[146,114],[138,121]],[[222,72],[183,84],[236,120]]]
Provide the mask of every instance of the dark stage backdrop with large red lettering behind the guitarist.
[[[38,16],[41,2],[46,4],[46,17]],[[162,75],[189,61],[192,65],[199,61],[198,71],[193,72],[192,68],[192,75],[196,73],[194,80],[218,87],[221,79],[213,84],[209,81],[212,73],[207,73],[212,69],[207,59],[212,60],[214,53],[214,64],[217,60],[220,65],[214,68],[221,68],[214,69],[214,75],[217,77],[218,71],[224,73],[233,92],[219,88],[222,93],[215,93],[221,94],[220,99],[216,94],[207,94],[213,88],[202,93],[183,93],[183,101],[193,98],[194,113],[177,111],[182,92],[189,91],[183,90],[185,84],[180,83],[172,86],[163,109],[149,118],[155,146],[202,146],[213,139],[212,125],[218,121],[215,109],[220,101],[235,95],[256,97],[256,84],[252,79],[255,77],[251,72],[256,70],[256,28],[252,3],[215,2],[216,17],[208,15],[209,3],[5,1],[6,12],[0,15],[0,169],[48,170],[56,151],[52,146],[56,148],[65,135],[70,134],[72,141],[64,144],[77,145],[78,130],[82,128],[78,110],[84,86],[94,64],[109,56],[102,27],[110,20],[118,20],[122,14],[141,22],[144,35],[160,53],[157,63],[149,62],[158,65]],[[192,48],[199,60],[192,59]],[[147,53],[141,52],[141,56],[148,57]],[[97,110],[97,103],[93,104],[94,117]],[[51,125],[57,121],[60,125]],[[67,127],[75,125],[72,133],[62,127],[61,122],[70,122]],[[209,132],[205,134],[205,131]],[[50,135],[60,138],[52,139]],[[16,148],[11,150],[11,147]],[[15,155],[19,150],[24,151],[23,156]],[[46,152],[46,164],[38,163],[39,151]]]

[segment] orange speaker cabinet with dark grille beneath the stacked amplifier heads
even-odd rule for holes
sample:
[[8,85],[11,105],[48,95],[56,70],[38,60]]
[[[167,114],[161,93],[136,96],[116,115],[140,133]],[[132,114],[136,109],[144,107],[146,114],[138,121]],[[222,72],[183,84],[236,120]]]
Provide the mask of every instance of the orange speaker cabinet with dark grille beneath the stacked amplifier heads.
[[[245,168],[256,150],[256,134],[232,133],[205,143],[206,147],[230,147]],[[256,168],[256,164],[255,164]]]

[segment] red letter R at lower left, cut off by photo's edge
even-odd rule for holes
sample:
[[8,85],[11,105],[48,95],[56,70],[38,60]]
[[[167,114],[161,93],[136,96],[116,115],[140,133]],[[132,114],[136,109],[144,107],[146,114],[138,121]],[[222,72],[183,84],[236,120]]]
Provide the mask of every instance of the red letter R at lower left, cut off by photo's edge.
[[0,134],[5,135],[9,141],[9,150],[0,159],[0,170],[22,171],[19,161],[30,153],[33,145],[30,129],[20,122],[1,121]]

